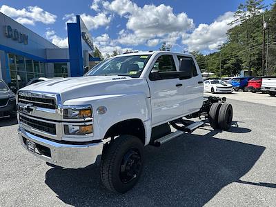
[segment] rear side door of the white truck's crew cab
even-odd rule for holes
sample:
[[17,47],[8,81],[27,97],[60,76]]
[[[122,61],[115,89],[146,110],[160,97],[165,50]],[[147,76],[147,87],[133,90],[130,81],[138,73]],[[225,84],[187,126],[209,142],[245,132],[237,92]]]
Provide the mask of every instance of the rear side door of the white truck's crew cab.
[[201,72],[199,66],[197,65],[195,59],[190,56],[177,55],[177,59],[184,61],[184,67],[179,68],[179,62],[177,67],[179,72],[181,70],[191,70],[193,77],[188,79],[182,79],[181,84],[184,86],[184,115],[189,115],[195,111],[198,111],[203,104],[203,79],[201,77]]

